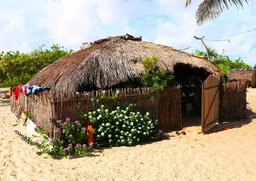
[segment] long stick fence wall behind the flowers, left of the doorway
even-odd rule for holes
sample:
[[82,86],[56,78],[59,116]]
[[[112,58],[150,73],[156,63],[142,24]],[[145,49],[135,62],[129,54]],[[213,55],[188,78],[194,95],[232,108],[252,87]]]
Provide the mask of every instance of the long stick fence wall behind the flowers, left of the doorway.
[[[179,130],[181,126],[180,108],[180,87],[165,89],[154,95],[149,88],[121,89],[119,96],[109,99],[116,90],[105,91],[107,98],[102,98],[103,91],[97,90],[82,93],[54,93],[50,91],[40,92],[39,95],[20,95],[15,101],[14,95],[11,97],[11,109],[17,117],[20,114],[19,106],[24,106],[31,111],[31,116],[35,124],[49,129],[49,135],[54,134],[56,123],[49,123],[48,117],[52,116],[56,120],[80,121],[83,126],[90,125],[90,121],[83,120],[83,115],[96,111],[104,105],[109,111],[115,110],[117,106],[125,109],[129,104],[133,104],[133,111],[146,114],[149,112],[152,120],[158,120],[158,128],[164,131]],[[150,98],[154,95],[154,101]],[[92,105],[91,99],[99,99],[99,104]],[[100,123],[93,124],[97,128]]]

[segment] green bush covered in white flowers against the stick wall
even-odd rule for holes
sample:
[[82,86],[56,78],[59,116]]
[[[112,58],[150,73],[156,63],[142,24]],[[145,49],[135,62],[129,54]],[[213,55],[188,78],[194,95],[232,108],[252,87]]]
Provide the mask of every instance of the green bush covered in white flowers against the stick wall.
[[[117,107],[116,110],[109,112],[102,105],[97,111],[84,115],[84,118],[88,117],[92,123],[101,123],[98,129],[93,129],[96,141],[108,137],[110,144],[131,146],[144,139],[160,140],[163,138],[163,136],[159,137],[163,133],[154,129],[157,121],[152,121],[148,112],[143,116],[140,112],[131,112],[131,108],[130,104],[125,110]],[[155,138],[157,135],[158,138]]]

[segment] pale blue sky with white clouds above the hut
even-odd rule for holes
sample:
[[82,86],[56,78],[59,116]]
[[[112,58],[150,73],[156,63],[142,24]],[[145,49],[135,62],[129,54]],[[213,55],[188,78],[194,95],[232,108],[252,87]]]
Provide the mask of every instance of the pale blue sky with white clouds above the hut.
[[[195,38],[219,37],[256,28],[256,4],[235,6],[198,26],[195,11],[202,0],[0,0],[0,52],[30,52],[44,44],[79,50],[83,42],[116,35],[142,36],[145,41],[184,49]],[[208,41],[221,54],[256,64],[256,31]],[[203,50],[196,40],[186,52]]]

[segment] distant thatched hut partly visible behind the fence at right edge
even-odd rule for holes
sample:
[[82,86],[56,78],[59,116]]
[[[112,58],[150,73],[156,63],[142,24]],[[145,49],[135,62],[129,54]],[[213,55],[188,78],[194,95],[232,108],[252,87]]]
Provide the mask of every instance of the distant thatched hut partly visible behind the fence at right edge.
[[245,79],[249,80],[249,87],[256,87],[256,69],[243,69],[243,70],[235,70],[227,73],[227,76],[230,80],[233,79]]

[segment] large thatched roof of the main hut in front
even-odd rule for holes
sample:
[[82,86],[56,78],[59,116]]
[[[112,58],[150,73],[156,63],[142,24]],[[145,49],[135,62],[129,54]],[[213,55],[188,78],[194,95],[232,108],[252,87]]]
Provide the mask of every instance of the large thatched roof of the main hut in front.
[[155,55],[164,71],[172,73],[177,63],[183,63],[217,76],[221,74],[204,58],[169,46],[108,37],[99,44],[62,57],[38,72],[29,83],[58,92],[77,91],[81,85],[98,89],[111,87],[139,78],[145,71],[140,61]]

